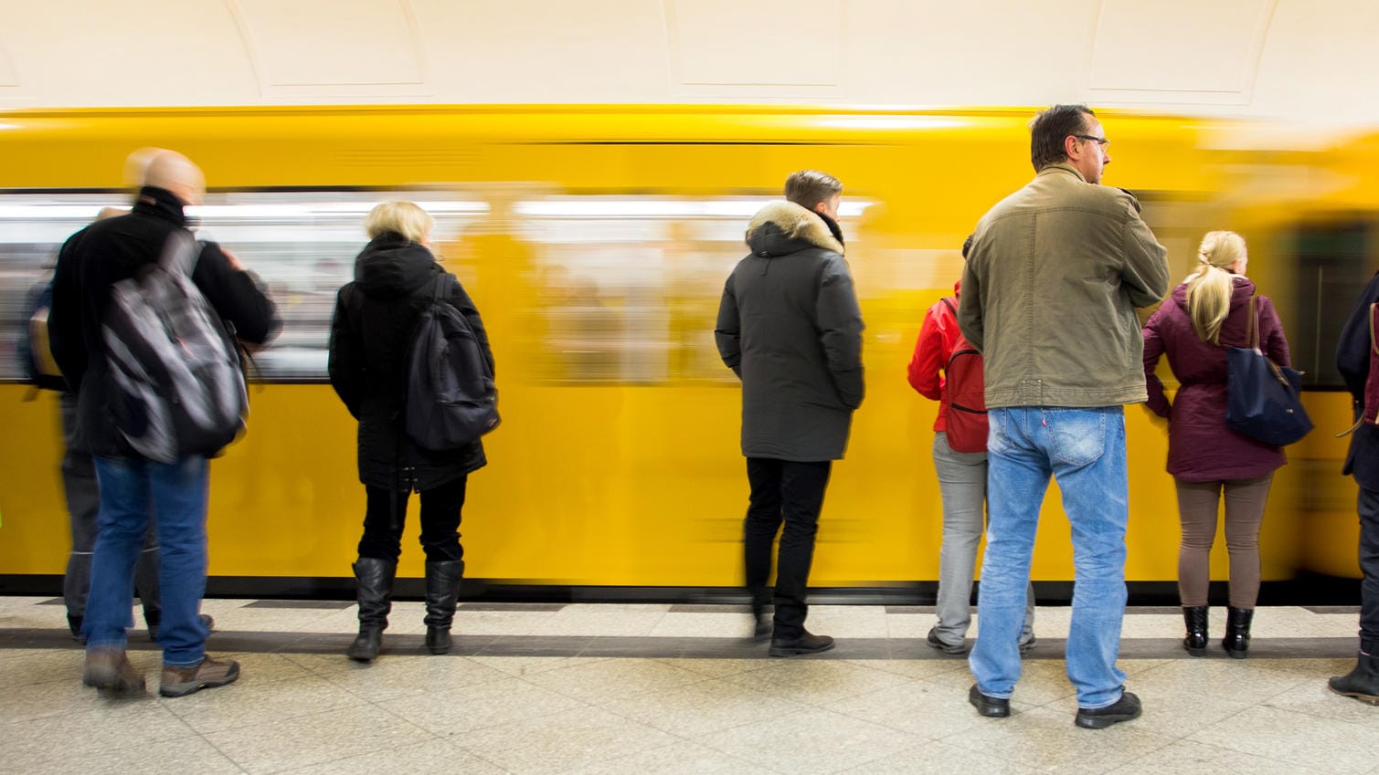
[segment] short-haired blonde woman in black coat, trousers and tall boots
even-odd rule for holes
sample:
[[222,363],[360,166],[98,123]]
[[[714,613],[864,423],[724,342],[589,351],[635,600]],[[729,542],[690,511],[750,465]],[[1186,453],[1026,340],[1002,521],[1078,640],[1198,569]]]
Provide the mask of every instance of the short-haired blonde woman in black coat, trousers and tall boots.
[[375,206],[364,222],[370,242],[354,259],[354,281],[339,289],[331,319],[331,385],[359,420],[359,479],[365,493],[364,534],[354,562],[359,637],[346,652],[359,662],[371,662],[382,647],[412,490],[421,493],[422,504],[426,647],[432,654],[450,651],[465,575],[459,544],[465,486],[469,474],[488,463],[481,440],[430,452],[405,428],[412,333],[433,299],[463,315],[490,373],[494,368],[479,310],[430,251],[433,223],[430,213],[412,202]]

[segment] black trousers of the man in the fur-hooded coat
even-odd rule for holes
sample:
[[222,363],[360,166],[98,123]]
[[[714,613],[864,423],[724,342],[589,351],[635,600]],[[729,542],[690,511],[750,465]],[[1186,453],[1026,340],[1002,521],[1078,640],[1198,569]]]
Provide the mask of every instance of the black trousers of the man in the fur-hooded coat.
[[775,586],[775,637],[779,639],[798,637],[804,632],[804,617],[808,614],[804,597],[814,562],[814,535],[819,530],[819,509],[832,468],[833,463],[827,460],[792,463],[747,458],[752,500],[742,524],[747,592],[757,606],[769,600],[771,545],[779,531]]

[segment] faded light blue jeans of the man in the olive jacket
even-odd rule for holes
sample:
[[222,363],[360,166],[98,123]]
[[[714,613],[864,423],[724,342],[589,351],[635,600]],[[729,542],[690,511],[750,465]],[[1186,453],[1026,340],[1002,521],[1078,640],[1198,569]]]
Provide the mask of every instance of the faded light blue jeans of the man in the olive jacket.
[[1058,479],[1073,527],[1073,621],[1067,677],[1080,708],[1116,703],[1125,673],[1116,668],[1125,615],[1125,413],[1120,406],[992,409],[987,438],[990,523],[976,646],[968,663],[989,697],[1009,698],[1020,677],[1019,635],[1048,479]]

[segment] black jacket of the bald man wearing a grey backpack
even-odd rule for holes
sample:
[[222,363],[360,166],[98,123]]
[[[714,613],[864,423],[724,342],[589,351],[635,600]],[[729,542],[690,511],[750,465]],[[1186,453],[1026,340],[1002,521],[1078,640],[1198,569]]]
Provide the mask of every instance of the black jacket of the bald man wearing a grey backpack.
[[[182,202],[163,189],[139,191],[130,215],[98,220],[77,231],[58,253],[48,336],[62,376],[77,394],[76,449],[101,456],[132,454],[108,409],[110,391],[101,325],[110,286],[157,263],[163,246],[186,227]],[[262,344],[281,325],[277,308],[248,271],[239,271],[215,242],[207,242],[192,281],[211,307],[247,343]]]

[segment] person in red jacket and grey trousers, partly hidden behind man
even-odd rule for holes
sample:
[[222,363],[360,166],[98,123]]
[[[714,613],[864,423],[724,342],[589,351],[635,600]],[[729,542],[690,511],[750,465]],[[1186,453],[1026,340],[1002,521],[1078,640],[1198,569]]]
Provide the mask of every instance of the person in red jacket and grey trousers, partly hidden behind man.
[[[967,255],[964,244],[963,253]],[[920,339],[910,358],[910,387],[920,395],[939,402],[934,420],[934,469],[943,498],[943,545],[939,549],[938,622],[929,629],[927,643],[945,654],[967,652],[967,629],[972,624],[972,575],[976,570],[976,546],[986,530],[986,449],[956,452],[947,440],[949,391],[946,372],[956,343],[957,295],[963,284],[953,285],[953,297],[929,307],[920,326]],[[1034,648],[1034,585],[1030,584],[1025,608],[1020,651]]]

